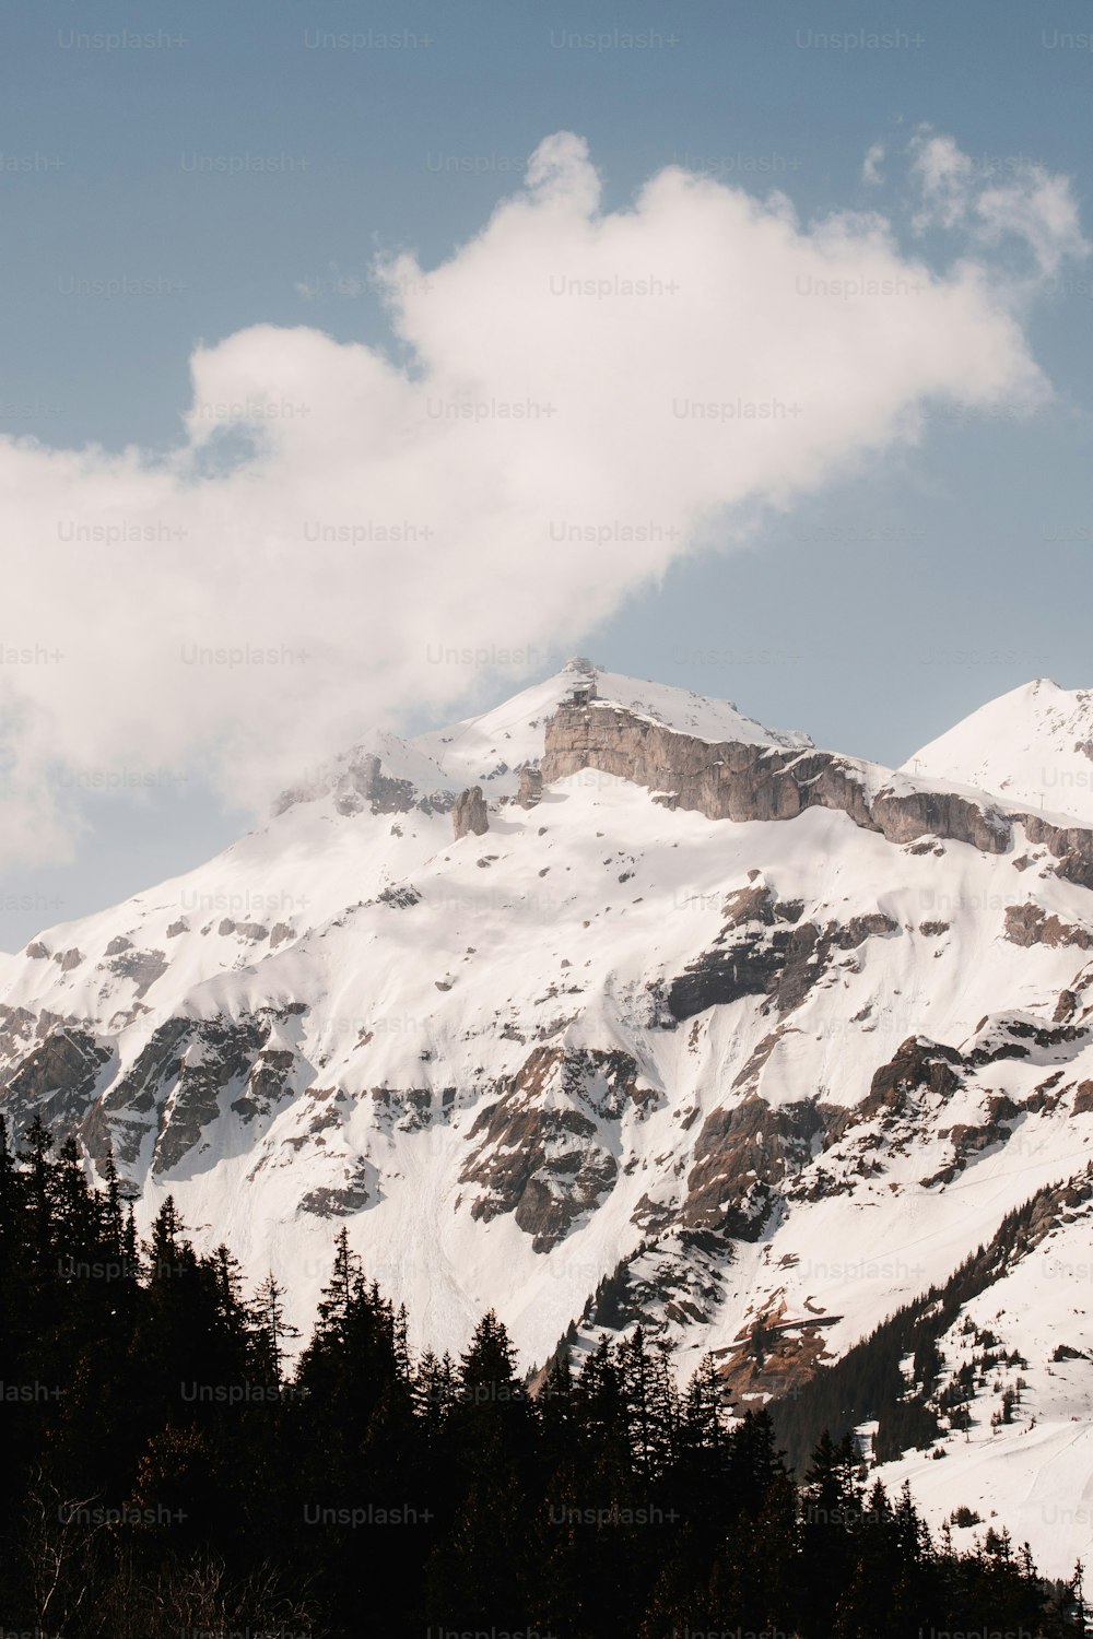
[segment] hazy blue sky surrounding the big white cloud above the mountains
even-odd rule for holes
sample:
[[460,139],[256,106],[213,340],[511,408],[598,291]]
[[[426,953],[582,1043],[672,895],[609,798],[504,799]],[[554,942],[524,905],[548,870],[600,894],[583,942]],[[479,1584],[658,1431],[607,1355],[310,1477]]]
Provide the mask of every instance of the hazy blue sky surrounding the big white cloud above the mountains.
[[[41,0],[13,7],[5,30],[0,433],[56,449],[177,449],[195,346],[259,323],[405,362],[369,282],[375,254],[444,262],[556,131],[587,139],[605,211],[685,164],[759,197],[777,187],[811,223],[873,208],[867,151],[891,156],[929,125],[982,182],[1029,164],[1068,175],[1090,231],[1082,3]],[[914,236],[913,208],[893,167],[883,210],[901,243],[950,266],[946,234]],[[929,411],[916,443],[832,470],[744,544],[705,531],[621,588],[582,651],[885,762],[1029,677],[1093,683],[1091,316],[1093,267],[1065,262],[1023,315],[1047,406]],[[61,603],[74,595],[56,585]],[[126,597],[105,559],[100,595]],[[21,641],[8,620],[0,641]],[[420,726],[521,682],[474,672],[465,700],[403,700],[398,720]],[[151,683],[134,674],[133,687]],[[367,688],[354,710],[364,728]],[[156,751],[146,736],[144,767],[177,772],[139,801],[70,805],[84,826],[72,857],[5,860],[0,947],[182,870],[249,823],[200,757]]]

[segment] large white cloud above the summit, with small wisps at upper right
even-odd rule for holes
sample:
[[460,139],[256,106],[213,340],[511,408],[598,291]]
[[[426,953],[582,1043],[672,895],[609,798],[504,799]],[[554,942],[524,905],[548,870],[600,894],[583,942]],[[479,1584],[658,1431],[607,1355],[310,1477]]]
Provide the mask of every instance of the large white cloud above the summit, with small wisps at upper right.
[[[916,164],[952,215],[944,141]],[[257,325],[195,351],[169,459],[0,441],[0,642],[38,656],[0,665],[11,854],[56,854],[57,762],[203,767],[261,803],[365,723],[464,695],[438,646],[575,646],[711,520],[731,538],[931,402],[1047,393],[983,257],[931,272],[880,215],[801,225],[678,167],[598,200],[560,133],[428,277],[383,264],[406,365]],[[1041,175],[980,192],[973,236],[1024,231],[1047,269],[1075,223]]]

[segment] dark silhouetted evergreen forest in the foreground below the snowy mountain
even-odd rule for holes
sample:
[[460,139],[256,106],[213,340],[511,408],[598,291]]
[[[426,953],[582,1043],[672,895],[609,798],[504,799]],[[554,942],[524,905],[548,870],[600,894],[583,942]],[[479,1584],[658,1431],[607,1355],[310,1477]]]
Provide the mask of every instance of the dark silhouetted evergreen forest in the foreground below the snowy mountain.
[[[288,1372],[287,1359],[295,1359]],[[921,1639],[1083,1631],[990,1532],[957,1554],[823,1434],[801,1478],[711,1362],[677,1387],[636,1331],[531,1396],[495,1314],[416,1355],[346,1231],[295,1355],[166,1201],[146,1244],[107,1169],[0,1121],[0,1629]]]

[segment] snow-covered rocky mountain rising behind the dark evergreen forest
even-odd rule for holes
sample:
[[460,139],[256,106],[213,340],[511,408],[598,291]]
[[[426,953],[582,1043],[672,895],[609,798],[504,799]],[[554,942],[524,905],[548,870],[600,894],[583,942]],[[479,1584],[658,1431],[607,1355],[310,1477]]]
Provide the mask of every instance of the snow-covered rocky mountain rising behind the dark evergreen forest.
[[931,1380],[906,1362],[937,1434],[888,1469],[1070,1572],[1086,716],[1031,683],[891,772],[574,661],[365,739],[206,865],[7,959],[0,1110],[92,1165],[111,1146],[144,1221],[172,1193],[303,1324],[347,1223],[420,1342],[495,1306],[531,1365],[644,1316],[685,1367],[716,1351],[737,1405],[798,1392],[1034,1198]]

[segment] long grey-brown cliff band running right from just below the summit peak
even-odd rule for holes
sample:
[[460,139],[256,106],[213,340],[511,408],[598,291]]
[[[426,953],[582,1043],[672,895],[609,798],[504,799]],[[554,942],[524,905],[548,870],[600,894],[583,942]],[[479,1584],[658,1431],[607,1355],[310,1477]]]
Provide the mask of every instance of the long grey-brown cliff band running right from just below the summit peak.
[[[547,721],[544,782],[582,769],[644,785],[667,806],[708,820],[793,820],[806,808],[832,808],[890,842],[941,836],[1001,854],[1013,841],[1009,818],[986,798],[908,780],[870,795],[865,765],[834,752],[705,741],[606,701],[562,705]],[[1086,836],[1093,880],[1093,833]]]

